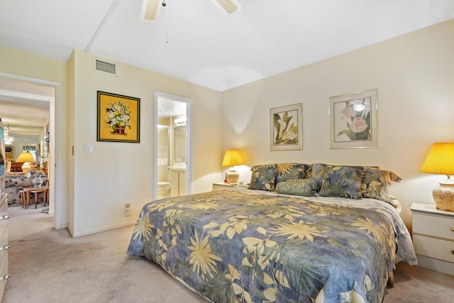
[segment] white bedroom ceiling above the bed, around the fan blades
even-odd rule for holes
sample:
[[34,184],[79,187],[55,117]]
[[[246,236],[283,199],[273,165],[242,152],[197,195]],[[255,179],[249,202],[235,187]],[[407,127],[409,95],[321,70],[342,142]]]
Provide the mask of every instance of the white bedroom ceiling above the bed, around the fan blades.
[[453,0],[236,0],[231,15],[213,1],[167,0],[150,23],[142,0],[0,0],[0,45],[87,50],[222,92],[454,18]]

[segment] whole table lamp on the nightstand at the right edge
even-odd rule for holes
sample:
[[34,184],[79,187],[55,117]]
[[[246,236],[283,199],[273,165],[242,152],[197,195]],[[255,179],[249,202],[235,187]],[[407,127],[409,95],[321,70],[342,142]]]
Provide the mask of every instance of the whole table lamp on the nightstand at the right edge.
[[440,182],[440,186],[432,191],[436,208],[445,211],[454,211],[454,143],[433,143],[421,172],[447,175],[448,179]]

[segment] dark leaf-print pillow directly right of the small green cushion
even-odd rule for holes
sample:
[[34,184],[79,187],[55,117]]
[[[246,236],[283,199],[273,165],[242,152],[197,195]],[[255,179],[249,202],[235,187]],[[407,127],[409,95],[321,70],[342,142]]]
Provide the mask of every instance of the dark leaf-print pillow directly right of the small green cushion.
[[328,166],[320,188],[322,197],[362,198],[361,182],[364,167]]

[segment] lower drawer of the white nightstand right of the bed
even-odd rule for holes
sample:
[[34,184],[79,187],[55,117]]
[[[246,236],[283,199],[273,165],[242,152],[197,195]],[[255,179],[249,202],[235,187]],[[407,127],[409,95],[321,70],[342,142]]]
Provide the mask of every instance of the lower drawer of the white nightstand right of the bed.
[[414,235],[413,244],[414,250],[419,255],[454,262],[454,241]]

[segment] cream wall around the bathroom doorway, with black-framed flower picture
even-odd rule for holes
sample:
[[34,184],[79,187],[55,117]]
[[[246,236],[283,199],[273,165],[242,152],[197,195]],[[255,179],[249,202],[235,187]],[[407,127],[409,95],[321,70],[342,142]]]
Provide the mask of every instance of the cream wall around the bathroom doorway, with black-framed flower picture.
[[[220,92],[121,62],[116,62],[118,77],[103,75],[93,72],[93,57],[74,50],[73,236],[134,224],[143,204],[152,200],[155,91],[193,100],[193,192],[211,190],[211,182],[220,178]],[[96,142],[98,90],[140,98],[139,144]],[[93,153],[85,153],[87,144]],[[128,217],[126,203],[132,207]]]

